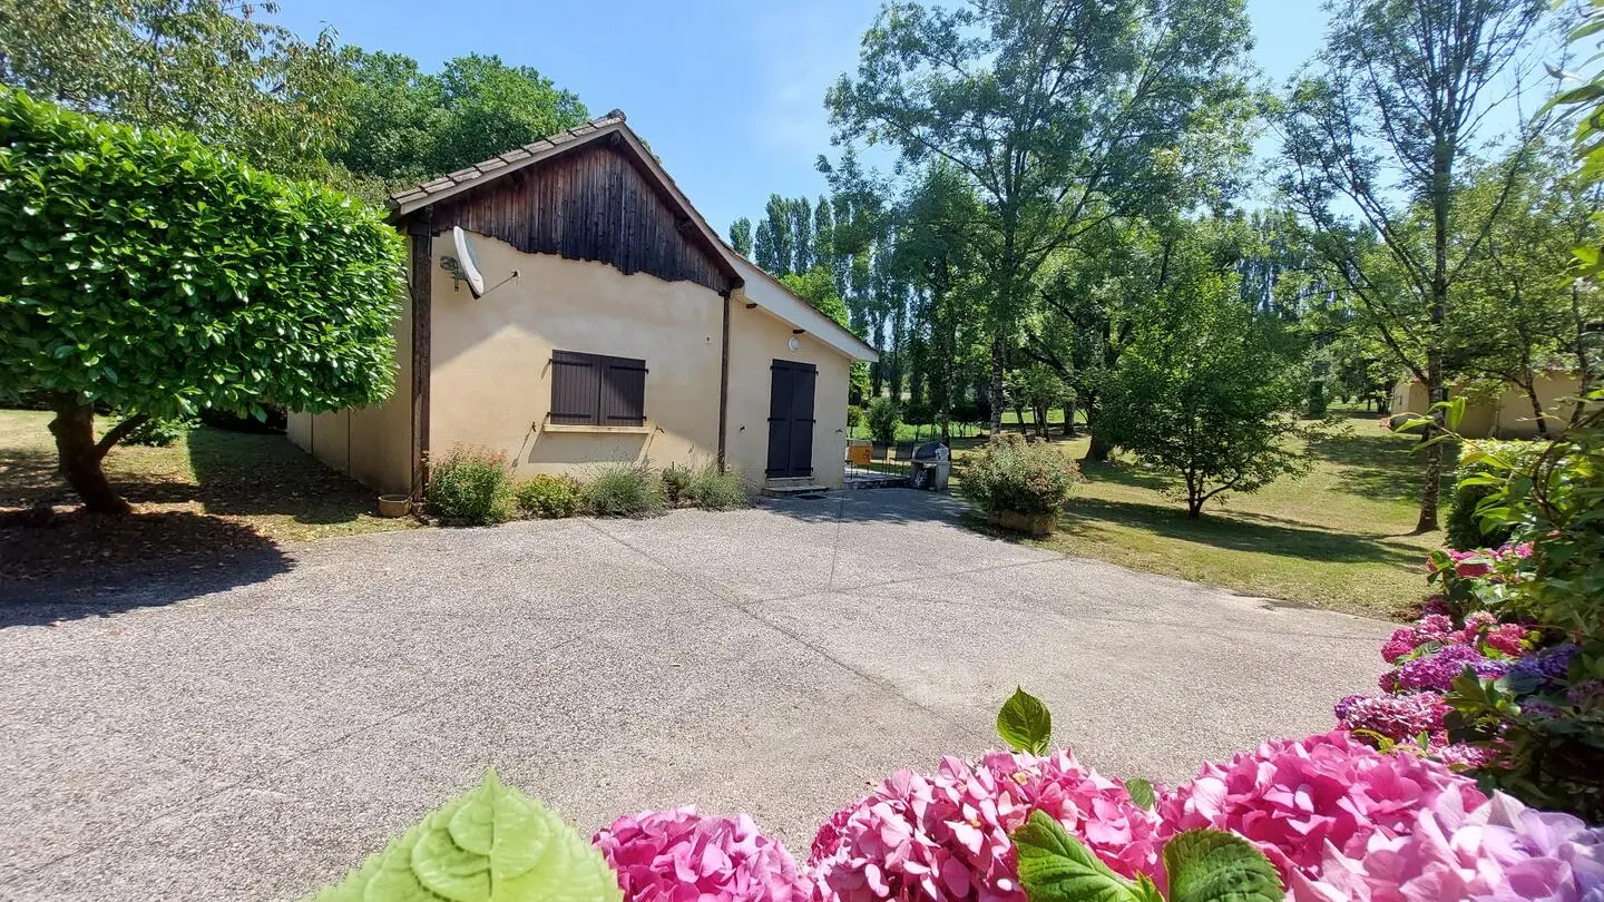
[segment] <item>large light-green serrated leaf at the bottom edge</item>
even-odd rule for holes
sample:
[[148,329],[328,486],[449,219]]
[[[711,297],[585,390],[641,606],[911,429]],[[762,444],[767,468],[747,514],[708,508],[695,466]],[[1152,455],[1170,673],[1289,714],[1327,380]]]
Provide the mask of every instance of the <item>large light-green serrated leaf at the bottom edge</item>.
[[496,772],[391,841],[316,902],[621,902],[577,831]]

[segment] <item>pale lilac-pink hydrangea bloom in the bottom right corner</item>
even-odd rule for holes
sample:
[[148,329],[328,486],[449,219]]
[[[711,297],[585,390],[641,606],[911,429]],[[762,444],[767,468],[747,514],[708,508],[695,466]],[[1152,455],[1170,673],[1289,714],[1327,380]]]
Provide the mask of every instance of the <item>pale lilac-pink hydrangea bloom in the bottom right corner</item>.
[[1294,902],[1591,902],[1604,897],[1604,831],[1495,793],[1466,812],[1445,794],[1407,835],[1357,854],[1325,846],[1318,875],[1294,872]]

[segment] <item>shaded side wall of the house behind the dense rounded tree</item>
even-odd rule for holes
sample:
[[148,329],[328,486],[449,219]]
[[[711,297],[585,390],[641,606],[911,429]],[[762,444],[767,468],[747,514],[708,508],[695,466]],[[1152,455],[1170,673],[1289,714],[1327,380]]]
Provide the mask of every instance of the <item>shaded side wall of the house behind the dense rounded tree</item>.
[[286,435],[324,464],[385,493],[412,486],[412,305],[395,324],[396,382],[388,400],[361,409],[290,414]]

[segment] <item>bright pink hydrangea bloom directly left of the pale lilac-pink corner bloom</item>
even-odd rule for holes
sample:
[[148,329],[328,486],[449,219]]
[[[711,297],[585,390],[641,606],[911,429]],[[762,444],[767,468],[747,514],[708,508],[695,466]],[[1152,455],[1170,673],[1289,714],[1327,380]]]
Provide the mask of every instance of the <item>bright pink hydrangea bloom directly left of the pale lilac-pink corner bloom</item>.
[[1166,836],[1213,827],[1248,838],[1286,876],[1318,876],[1325,846],[1362,855],[1371,836],[1407,835],[1415,812],[1458,794],[1480,804],[1476,783],[1420,756],[1383,754],[1336,730],[1267,742],[1230,761],[1203,766],[1166,794],[1158,812]]

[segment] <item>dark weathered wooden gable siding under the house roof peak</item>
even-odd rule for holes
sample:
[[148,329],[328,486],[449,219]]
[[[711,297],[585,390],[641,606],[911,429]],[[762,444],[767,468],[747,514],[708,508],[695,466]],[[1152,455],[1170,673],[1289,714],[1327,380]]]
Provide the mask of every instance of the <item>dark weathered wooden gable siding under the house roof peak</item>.
[[510,173],[435,207],[435,230],[462,226],[526,254],[595,260],[624,273],[735,287],[720,262],[693,241],[675,204],[618,148],[579,148]]

